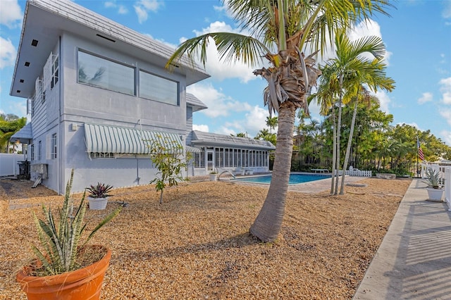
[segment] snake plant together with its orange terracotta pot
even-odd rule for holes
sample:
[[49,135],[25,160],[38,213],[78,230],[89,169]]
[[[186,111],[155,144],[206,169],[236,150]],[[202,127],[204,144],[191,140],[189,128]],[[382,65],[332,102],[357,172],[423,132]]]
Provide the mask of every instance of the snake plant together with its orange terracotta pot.
[[63,207],[58,217],[50,208],[42,206],[44,220],[33,213],[39,237],[39,249],[32,246],[36,258],[25,265],[16,275],[16,280],[29,300],[34,299],[99,299],[106,268],[109,266],[111,250],[87,242],[103,225],[121,211],[122,206],[101,220],[85,242],[80,237],[86,224],[85,194],[80,205],[74,208],[70,189],[73,170],[66,185]]

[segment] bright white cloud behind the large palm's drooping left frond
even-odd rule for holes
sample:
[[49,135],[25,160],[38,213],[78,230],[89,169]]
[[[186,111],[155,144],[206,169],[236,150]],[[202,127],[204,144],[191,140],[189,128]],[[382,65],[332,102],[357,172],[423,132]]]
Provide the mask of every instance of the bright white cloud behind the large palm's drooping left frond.
[[[202,28],[201,31],[194,30],[194,34],[198,37],[199,35],[204,35],[209,32],[238,32],[238,30],[233,29],[230,25],[224,22],[216,21],[211,23],[209,27]],[[246,35],[245,32],[240,32]],[[185,42],[186,38],[180,39],[180,42]],[[254,68],[249,67],[245,63],[223,63],[219,59],[218,51],[214,46],[213,40],[209,44],[206,50],[206,72],[214,77],[215,80],[225,80],[227,78],[238,78],[240,82],[248,82],[249,80],[254,80],[257,78],[252,71]]]

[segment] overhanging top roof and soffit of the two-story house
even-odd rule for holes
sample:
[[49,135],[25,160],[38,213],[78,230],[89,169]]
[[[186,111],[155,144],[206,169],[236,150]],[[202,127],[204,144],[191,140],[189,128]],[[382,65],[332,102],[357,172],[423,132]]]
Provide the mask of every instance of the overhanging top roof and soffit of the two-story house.
[[[161,67],[166,65],[175,50],[73,1],[28,0],[11,83],[11,96],[33,96],[35,80],[42,73],[47,57],[63,32],[71,32],[106,47],[114,47]],[[36,46],[32,45],[33,40],[37,41]],[[30,64],[25,66],[25,62]],[[187,85],[210,77],[199,65],[194,65],[194,68],[192,66],[184,56],[174,65],[173,72],[185,75]]]

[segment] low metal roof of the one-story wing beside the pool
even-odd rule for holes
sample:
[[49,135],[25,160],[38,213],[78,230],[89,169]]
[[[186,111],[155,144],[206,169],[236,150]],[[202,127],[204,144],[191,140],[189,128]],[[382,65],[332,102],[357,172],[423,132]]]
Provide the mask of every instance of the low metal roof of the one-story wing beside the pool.
[[228,146],[230,148],[274,150],[276,147],[268,141],[250,139],[248,137],[232,137],[231,135],[218,135],[216,133],[194,130],[192,144],[205,146]]

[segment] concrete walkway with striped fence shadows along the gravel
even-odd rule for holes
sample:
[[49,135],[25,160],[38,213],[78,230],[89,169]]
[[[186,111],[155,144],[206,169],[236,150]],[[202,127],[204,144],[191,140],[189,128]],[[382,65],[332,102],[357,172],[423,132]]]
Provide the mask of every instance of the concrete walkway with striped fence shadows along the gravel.
[[354,299],[451,299],[451,211],[414,179]]

